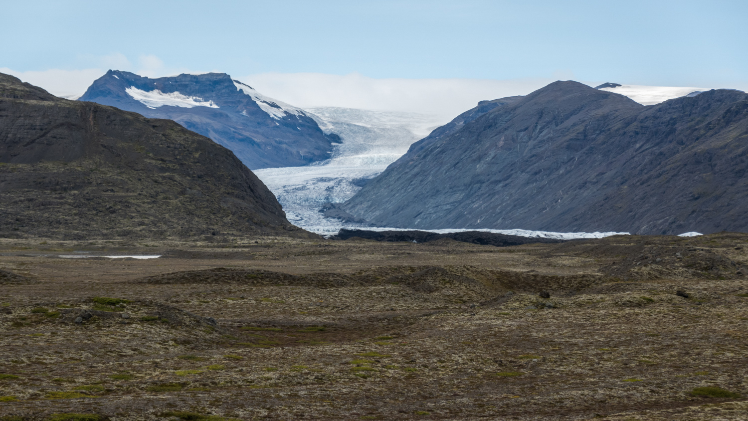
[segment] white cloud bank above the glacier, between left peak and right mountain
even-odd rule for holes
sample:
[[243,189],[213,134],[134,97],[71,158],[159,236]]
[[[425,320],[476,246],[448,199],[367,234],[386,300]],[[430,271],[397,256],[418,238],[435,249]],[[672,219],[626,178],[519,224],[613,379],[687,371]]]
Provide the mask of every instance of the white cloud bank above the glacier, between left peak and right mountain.
[[239,79],[297,106],[411,111],[454,117],[478,101],[526,95],[555,79],[373,79],[359,73],[260,73]]

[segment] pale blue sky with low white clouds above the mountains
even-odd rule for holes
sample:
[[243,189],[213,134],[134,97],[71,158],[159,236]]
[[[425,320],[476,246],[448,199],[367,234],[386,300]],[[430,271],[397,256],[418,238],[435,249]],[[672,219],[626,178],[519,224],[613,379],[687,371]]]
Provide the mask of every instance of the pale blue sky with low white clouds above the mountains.
[[558,79],[748,90],[744,0],[31,0],[2,10],[0,72],[61,96],[108,69],[224,72],[294,105],[423,112]]

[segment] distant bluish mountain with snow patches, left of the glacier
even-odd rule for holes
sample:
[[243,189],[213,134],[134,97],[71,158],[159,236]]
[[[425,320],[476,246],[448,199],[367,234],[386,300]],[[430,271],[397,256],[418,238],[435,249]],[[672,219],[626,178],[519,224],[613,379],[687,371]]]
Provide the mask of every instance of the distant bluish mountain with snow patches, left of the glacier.
[[109,70],[79,100],[174,120],[229,148],[253,170],[323,161],[340,143],[301,109],[225,73],[150,79]]

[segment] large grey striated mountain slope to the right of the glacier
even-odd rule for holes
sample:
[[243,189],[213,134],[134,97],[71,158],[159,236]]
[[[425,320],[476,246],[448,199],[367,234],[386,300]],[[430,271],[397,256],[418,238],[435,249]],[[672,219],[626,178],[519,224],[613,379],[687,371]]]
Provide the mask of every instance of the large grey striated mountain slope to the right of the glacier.
[[498,102],[416,142],[340,207],[411,229],[748,231],[746,93],[644,106],[554,82]]

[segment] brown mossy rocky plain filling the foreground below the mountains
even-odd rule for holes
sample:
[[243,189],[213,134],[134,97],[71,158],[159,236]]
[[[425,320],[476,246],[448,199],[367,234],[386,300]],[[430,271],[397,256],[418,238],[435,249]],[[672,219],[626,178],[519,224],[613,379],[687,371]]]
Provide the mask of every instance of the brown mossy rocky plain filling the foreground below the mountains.
[[0,420],[745,420],[747,244],[0,240]]

